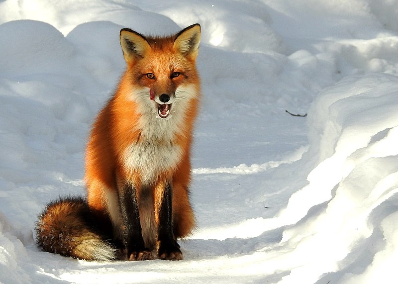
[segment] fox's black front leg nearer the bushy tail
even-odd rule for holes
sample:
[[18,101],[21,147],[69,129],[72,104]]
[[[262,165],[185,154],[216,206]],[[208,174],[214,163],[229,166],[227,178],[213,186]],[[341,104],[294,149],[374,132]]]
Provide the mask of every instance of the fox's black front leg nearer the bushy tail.
[[130,183],[126,183],[119,191],[119,203],[123,219],[122,238],[127,259],[130,261],[153,259],[151,250],[145,248],[142,238],[137,190]]

